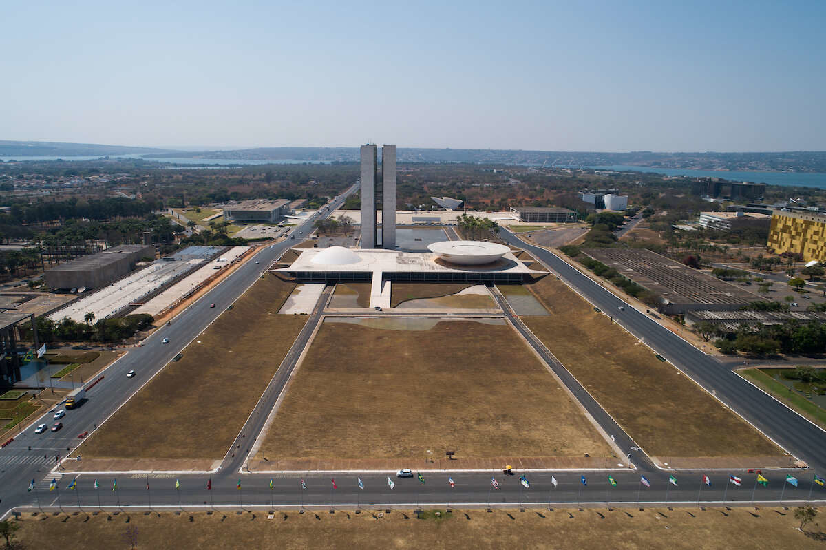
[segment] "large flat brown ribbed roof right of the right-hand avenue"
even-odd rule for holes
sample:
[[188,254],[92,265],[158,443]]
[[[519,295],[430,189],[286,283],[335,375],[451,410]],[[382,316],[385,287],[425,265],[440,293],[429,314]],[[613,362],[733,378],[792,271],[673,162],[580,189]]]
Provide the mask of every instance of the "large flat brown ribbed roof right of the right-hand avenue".
[[746,305],[761,296],[648,249],[582,249],[672,304]]

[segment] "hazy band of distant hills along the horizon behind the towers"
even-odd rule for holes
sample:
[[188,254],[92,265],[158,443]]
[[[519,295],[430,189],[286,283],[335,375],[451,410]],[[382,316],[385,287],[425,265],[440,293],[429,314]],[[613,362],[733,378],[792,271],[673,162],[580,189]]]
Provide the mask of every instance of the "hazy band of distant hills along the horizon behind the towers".
[[[150,159],[297,160],[303,162],[357,162],[358,147],[258,147],[254,149],[181,151],[121,145],[2,141],[0,156],[107,156],[141,154]],[[520,149],[417,149],[400,147],[402,163],[533,164],[579,168],[581,166],[639,166],[692,170],[739,170],[826,173],[826,152],[781,153],[592,153]]]

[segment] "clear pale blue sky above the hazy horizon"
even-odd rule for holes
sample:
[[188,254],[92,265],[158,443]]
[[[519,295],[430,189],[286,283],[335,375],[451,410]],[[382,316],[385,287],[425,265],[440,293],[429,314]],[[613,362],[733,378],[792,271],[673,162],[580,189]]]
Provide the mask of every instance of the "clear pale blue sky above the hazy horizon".
[[2,14],[0,140],[826,150],[823,0],[38,0]]

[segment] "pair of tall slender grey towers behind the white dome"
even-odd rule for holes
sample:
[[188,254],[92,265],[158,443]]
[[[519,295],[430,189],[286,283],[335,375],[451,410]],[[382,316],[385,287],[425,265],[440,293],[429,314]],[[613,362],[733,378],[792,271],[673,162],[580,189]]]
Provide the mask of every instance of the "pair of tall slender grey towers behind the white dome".
[[[362,145],[362,243],[377,249],[376,202],[378,172],[376,145]],[[396,249],[396,145],[382,145],[382,249]]]

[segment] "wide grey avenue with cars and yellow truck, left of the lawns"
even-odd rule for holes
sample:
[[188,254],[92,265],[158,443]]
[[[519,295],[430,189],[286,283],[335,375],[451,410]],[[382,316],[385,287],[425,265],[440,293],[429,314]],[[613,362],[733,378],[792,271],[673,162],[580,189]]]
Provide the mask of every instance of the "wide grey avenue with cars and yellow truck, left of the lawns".
[[[259,264],[254,261],[244,263],[207,295],[176,316],[169,326],[155,330],[144,340],[142,347],[132,348],[124,357],[108,367],[103,373],[102,381],[88,391],[88,401],[76,410],[67,411],[61,420],[64,428],[59,432],[34,434],[36,424],[53,423],[51,413],[35,420],[31,427],[23,428],[22,433],[12,443],[0,449],[0,510],[5,510],[6,505],[15,505],[22,495],[26,495],[24,485],[27,486],[28,481],[32,478],[40,481],[51,467],[55,467],[56,457],[67,456],[71,449],[81,443],[78,434],[86,431],[92,433],[97,425],[102,424],[121,404],[128,401],[145,382],[234,303],[261,276],[268,265],[309,235],[317,219],[330,216],[357,188],[357,185],[349,187],[346,192],[331,201],[329,207],[325,206],[294,227],[292,234],[297,235],[296,239],[287,239],[262,249],[255,256]],[[211,308],[211,303],[215,303],[216,307]],[[169,339],[169,344],[161,344],[164,338]],[[126,372],[132,369],[135,370],[136,376],[126,378]],[[22,495],[18,492],[21,488]]]

